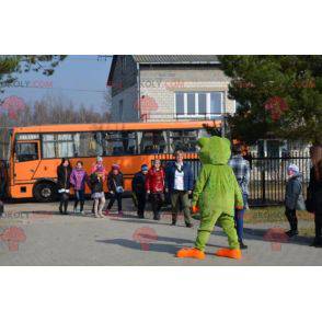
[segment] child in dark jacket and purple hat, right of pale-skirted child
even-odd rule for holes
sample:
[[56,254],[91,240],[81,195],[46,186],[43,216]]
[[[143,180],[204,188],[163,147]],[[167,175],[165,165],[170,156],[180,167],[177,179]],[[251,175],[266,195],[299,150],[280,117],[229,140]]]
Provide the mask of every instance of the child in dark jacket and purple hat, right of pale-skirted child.
[[118,164],[113,164],[112,170],[107,175],[107,188],[111,195],[110,203],[106,209],[106,216],[108,216],[111,208],[115,200],[117,200],[118,215],[122,216],[122,195],[124,192],[124,179],[123,173]]

